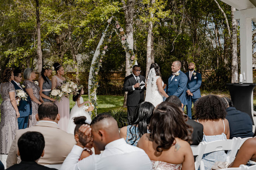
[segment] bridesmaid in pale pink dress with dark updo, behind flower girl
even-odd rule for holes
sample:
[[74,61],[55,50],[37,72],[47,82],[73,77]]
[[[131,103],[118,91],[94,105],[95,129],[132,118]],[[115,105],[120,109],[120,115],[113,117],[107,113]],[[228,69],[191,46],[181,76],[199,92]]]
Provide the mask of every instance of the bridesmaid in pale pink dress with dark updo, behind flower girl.
[[[66,78],[62,77],[62,75],[64,75],[64,68],[59,63],[54,63],[54,68],[56,75],[52,77],[52,89],[61,86],[62,82],[66,80]],[[55,104],[57,105],[61,116],[61,119],[58,122],[59,127],[67,132],[69,122],[69,99],[65,95],[62,95],[61,100],[56,100]]]

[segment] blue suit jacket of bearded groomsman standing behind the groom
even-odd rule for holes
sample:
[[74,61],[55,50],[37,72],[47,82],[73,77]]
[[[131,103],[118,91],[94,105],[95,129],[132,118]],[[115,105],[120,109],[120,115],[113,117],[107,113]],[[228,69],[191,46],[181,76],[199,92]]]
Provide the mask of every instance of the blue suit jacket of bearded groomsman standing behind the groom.
[[[190,90],[191,93],[193,93],[192,99],[198,99],[201,97],[201,92],[200,92],[200,87],[202,84],[202,75],[201,73],[195,72],[195,76],[192,75],[191,80],[189,80],[189,72],[186,73],[187,78],[188,78],[188,83],[187,83],[187,90]],[[186,93],[187,95],[187,93]],[[187,95],[188,97],[188,95]]]

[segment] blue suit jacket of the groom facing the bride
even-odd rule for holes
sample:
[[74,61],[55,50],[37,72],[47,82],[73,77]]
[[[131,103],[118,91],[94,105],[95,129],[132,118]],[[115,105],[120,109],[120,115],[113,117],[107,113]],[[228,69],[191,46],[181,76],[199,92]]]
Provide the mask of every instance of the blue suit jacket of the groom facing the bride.
[[171,80],[171,77],[173,75],[170,75],[168,78],[168,84],[166,85],[165,91],[166,93],[170,95],[176,95],[180,101],[183,103],[183,105],[187,104],[187,98],[186,98],[186,87],[187,87],[187,81],[188,78],[182,71],[179,71],[180,75],[175,76],[173,80]]

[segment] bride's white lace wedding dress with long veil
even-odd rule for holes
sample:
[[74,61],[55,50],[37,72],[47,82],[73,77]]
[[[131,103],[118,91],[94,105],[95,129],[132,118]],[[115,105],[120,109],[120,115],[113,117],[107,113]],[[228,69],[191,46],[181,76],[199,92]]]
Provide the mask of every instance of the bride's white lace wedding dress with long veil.
[[[156,75],[156,71],[154,68],[151,68],[149,71],[149,75],[147,77],[147,90],[145,102],[152,103],[155,107],[163,102],[163,95],[158,91],[158,87],[156,84],[156,80],[160,78],[160,76]],[[162,81],[162,86],[164,82]]]

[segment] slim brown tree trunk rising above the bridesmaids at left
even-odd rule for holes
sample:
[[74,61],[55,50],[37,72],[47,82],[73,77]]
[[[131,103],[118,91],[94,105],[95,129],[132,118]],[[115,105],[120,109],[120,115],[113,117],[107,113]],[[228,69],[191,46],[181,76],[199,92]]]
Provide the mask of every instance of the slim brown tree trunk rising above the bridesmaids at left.
[[39,14],[39,0],[36,1],[36,26],[37,26],[37,58],[38,58],[38,73],[41,73],[43,67],[42,61],[42,49],[41,49],[41,25],[40,25],[40,14]]

